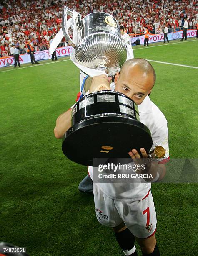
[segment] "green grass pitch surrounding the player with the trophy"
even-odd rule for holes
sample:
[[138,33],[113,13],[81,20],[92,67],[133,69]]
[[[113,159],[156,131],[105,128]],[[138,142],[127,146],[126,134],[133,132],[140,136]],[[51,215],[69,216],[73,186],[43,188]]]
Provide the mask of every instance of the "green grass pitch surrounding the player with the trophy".
[[[198,67],[198,41],[189,41],[137,46],[134,55]],[[0,69],[0,241],[30,256],[121,256],[113,230],[95,217],[93,195],[78,191],[87,167],[66,159],[53,135],[79,91],[79,71],[67,59]],[[151,64],[150,96],[168,120],[170,156],[196,158],[198,69]],[[197,184],[153,184],[152,194],[161,255],[197,255]]]

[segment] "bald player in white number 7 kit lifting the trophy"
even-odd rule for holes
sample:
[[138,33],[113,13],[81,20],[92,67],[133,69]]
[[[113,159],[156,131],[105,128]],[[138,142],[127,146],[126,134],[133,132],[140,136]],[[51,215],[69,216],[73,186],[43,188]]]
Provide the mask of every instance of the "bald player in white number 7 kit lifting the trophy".
[[[115,83],[109,85],[110,79],[105,75],[93,77],[90,89],[115,90],[130,97],[137,105],[140,121],[151,132],[153,143],[165,148],[165,159],[152,162],[147,172],[152,173],[153,182],[165,176],[165,162],[168,161],[168,128],[163,113],[150,100],[148,94],[155,84],[155,71],[145,59],[130,59],[125,62],[120,73],[115,76]],[[54,129],[55,137],[62,138],[71,126],[71,109],[57,118]],[[121,150],[121,149],[120,149]],[[143,158],[147,158],[144,148],[140,149]],[[133,148],[129,155],[134,162],[140,159],[138,151]],[[93,179],[93,167],[88,169]],[[125,255],[137,255],[134,241],[139,243],[143,256],[159,256],[155,239],[156,213],[150,183],[93,183],[95,212],[98,221],[112,227],[116,239]]]

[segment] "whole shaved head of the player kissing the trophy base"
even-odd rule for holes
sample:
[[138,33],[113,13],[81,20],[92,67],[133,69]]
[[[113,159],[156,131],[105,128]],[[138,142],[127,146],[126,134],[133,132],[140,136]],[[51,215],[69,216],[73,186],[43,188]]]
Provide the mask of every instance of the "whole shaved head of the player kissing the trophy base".
[[115,75],[115,91],[141,104],[155,84],[155,70],[145,59],[129,59]]

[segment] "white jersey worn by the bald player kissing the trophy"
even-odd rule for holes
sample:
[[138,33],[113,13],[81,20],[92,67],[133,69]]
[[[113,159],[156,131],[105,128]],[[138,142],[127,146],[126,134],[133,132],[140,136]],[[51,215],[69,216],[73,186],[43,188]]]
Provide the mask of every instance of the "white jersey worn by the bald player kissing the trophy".
[[[110,84],[111,90],[115,89],[115,84]],[[138,105],[140,122],[146,125],[152,135],[153,146],[156,143],[165,148],[166,154],[162,162],[168,161],[168,128],[167,121],[159,108],[146,96],[143,102]],[[88,167],[88,172],[93,179],[93,167]],[[142,200],[148,193],[150,183],[97,183],[96,184],[105,195],[114,200]]]

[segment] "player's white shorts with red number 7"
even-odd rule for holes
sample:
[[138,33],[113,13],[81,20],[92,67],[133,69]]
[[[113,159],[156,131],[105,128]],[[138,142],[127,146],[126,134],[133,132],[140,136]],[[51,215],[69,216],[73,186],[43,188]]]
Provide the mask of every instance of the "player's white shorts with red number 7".
[[114,200],[93,183],[95,213],[98,221],[108,227],[124,222],[138,238],[153,236],[156,230],[156,212],[151,191],[140,201]]

